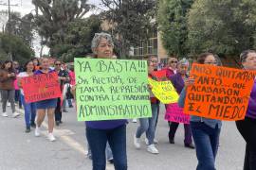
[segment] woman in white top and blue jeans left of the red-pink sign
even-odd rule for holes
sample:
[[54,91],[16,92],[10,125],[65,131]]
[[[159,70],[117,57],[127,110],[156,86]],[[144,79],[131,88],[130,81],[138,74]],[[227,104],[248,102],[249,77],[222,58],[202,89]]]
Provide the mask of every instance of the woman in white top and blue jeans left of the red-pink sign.
[[21,101],[25,110],[25,122],[26,122],[26,133],[30,132],[30,127],[35,127],[35,116],[36,116],[36,104],[34,102],[27,103],[25,101],[24,92],[22,89],[21,78],[26,76],[33,76],[34,64],[32,60],[25,63],[25,72],[21,72],[18,77],[18,86],[21,90]]

